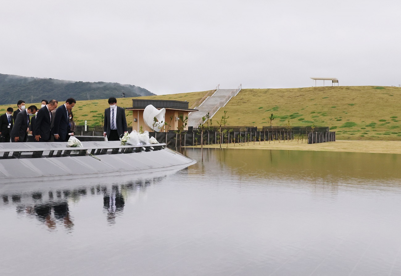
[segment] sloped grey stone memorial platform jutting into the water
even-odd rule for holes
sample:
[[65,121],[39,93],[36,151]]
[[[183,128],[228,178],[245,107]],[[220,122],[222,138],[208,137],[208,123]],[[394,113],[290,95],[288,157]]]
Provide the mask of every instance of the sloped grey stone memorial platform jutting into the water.
[[166,148],[166,144],[122,145],[120,141],[0,143],[0,179],[41,181],[49,177],[101,177],[179,170],[196,161]]

